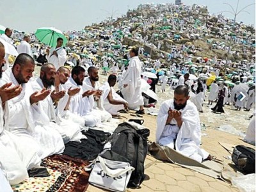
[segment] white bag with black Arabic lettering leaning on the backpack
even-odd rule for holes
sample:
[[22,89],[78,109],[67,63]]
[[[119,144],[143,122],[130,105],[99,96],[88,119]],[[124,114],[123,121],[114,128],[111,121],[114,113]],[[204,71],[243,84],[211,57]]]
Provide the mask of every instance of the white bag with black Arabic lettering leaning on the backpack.
[[98,156],[90,173],[89,182],[99,188],[125,191],[133,170],[129,163]]

